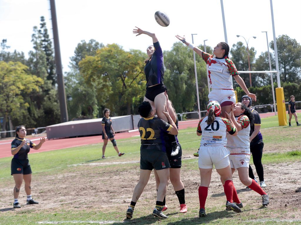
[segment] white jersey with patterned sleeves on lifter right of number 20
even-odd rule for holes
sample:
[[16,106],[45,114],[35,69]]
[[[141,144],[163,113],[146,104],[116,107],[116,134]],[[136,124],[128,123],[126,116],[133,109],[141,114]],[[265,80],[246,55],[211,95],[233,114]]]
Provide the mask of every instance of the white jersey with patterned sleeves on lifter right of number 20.
[[250,120],[246,115],[235,117],[235,119],[242,126],[242,129],[236,136],[227,134],[226,147],[231,154],[250,154]]

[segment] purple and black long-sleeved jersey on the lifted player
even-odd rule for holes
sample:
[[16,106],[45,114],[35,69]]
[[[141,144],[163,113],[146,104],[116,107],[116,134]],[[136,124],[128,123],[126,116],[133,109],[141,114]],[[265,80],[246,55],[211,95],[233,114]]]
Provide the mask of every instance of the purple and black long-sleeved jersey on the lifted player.
[[146,76],[146,87],[153,86],[155,84],[163,84],[164,80],[164,60],[163,52],[159,41],[154,43],[155,52],[151,59],[148,60],[144,67],[144,73]]

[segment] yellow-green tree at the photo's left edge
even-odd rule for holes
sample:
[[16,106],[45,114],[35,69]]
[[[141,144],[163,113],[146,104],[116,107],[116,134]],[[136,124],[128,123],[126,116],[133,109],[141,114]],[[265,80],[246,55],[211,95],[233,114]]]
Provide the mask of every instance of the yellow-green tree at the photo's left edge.
[[[24,96],[38,92],[43,80],[28,73],[28,67],[21,62],[0,61],[0,115],[6,124],[8,116],[22,122],[29,116],[29,104]],[[5,127],[2,128],[5,130]]]

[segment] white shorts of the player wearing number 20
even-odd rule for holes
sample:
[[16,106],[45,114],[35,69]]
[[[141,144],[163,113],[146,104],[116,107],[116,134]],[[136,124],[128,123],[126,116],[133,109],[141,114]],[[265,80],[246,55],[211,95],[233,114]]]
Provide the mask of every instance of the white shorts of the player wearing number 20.
[[223,169],[230,165],[229,154],[224,146],[200,146],[199,168],[212,169],[214,164],[216,169]]

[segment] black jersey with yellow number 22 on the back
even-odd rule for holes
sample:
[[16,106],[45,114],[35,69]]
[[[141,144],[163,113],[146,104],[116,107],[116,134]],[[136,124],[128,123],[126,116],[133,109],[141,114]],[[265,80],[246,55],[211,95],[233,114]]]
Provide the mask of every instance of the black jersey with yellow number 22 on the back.
[[158,117],[141,118],[138,122],[141,148],[158,149],[166,151],[165,135],[171,130],[172,126]]

